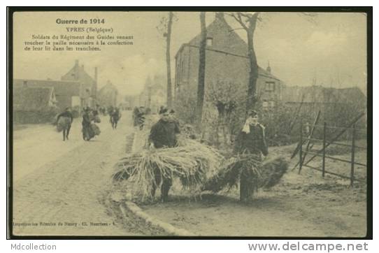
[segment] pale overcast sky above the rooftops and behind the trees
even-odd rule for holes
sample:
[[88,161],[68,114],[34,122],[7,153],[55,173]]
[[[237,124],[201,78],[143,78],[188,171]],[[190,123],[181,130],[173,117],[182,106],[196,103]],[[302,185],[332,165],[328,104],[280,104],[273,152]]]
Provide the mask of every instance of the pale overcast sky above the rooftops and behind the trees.
[[[199,13],[175,14],[172,59],[180,45],[200,32]],[[148,75],[165,74],[165,41],[156,29],[165,15],[167,13],[162,12],[15,13],[14,77],[60,80],[75,59],[79,59],[92,76],[94,67],[99,68],[99,87],[110,80],[122,94],[136,94],[141,91]],[[114,35],[134,36],[134,45],[107,46],[100,52],[23,50],[23,42],[30,41],[31,34],[69,35],[65,31],[67,25],[56,24],[57,18],[80,20],[94,17],[104,18],[106,24],[101,27],[113,27]],[[207,24],[210,24],[215,14],[207,13],[206,17]],[[313,20],[298,13],[262,13],[261,17],[262,22],[255,33],[259,66],[266,68],[269,61],[273,75],[291,86],[316,82],[326,87],[358,86],[366,89],[365,15],[318,13]],[[229,17],[227,22],[231,27],[238,27]],[[246,41],[245,31],[238,29],[236,32]]]

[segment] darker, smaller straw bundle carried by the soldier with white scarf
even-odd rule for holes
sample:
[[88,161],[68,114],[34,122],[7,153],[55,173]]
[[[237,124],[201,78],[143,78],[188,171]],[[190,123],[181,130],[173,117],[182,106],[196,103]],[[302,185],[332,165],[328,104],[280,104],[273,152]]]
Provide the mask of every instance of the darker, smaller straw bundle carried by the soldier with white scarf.
[[217,175],[207,180],[201,189],[203,191],[221,191],[224,188],[237,187],[242,176],[248,176],[255,188],[269,188],[278,184],[287,171],[287,162],[283,158],[259,161],[255,155],[231,157],[220,169]]

